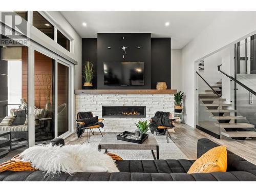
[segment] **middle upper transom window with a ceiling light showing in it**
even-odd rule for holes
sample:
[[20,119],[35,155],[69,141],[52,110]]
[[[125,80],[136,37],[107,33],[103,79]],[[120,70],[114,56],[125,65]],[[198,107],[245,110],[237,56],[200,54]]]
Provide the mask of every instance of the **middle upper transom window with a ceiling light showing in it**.
[[37,11],[33,11],[33,26],[54,40],[54,26]]

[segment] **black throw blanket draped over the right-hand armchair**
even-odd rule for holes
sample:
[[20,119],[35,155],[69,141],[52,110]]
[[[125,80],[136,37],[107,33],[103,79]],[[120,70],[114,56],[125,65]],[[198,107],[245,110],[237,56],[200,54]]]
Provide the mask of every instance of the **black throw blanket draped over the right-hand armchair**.
[[158,132],[159,134],[164,135],[164,130],[157,129],[158,126],[168,126],[168,127],[174,127],[174,125],[171,123],[175,119],[170,119],[170,113],[169,112],[162,112],[158,111],[155,113],[155,117],[151,118],[152,123],[150,124],[150,130],[153,134],[154,132]]

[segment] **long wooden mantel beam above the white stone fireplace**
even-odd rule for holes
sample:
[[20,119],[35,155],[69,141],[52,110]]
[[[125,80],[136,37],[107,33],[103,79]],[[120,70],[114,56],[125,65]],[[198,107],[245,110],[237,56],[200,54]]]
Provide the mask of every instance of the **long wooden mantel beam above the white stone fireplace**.
[[156,95],[156,94],[168,94],[173,95],[177,93],[177,90],[75,90],[75,94],[144,94],[144,95]]

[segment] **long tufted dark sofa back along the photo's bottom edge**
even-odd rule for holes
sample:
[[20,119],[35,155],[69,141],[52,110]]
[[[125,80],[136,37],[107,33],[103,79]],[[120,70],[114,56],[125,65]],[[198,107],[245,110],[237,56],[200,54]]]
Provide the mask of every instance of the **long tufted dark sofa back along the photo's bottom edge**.
[[256,181],[256,176],[248,172],[215,173],[66,173],[46,175],[35,172],[3,172],[0,181]]

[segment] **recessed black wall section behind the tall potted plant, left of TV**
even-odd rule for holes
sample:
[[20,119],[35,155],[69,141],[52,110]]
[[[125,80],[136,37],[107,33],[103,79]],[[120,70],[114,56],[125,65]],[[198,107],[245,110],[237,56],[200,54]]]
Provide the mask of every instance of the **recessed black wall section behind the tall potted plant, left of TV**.
[[[97,89],[97,38],[82,38],[82,70],[86,61],[93,62],[93,89]],[[82,77],[82,89],[84,78]]]

